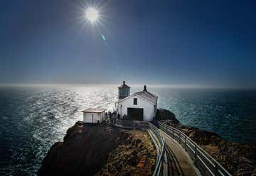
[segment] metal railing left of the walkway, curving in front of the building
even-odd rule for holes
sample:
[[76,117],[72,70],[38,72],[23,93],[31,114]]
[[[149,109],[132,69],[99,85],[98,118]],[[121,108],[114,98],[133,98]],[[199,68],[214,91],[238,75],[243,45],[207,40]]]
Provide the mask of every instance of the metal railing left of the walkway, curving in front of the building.
[[[149,121],[125,121],[125,120],[117,120],[112,122],[115,126],[120,128],[133,128],[133,129],[142,129],[146,130],[149,133],[157,151],[156,157],[156,167],[154,170],[154,176],[162,175],[162,167],[163,167],[163,158],[164,158],[164,146],[165,141],[164,137],[161,135],[160,131],[156,126],[154,126]],[[151,130],[151,132],[149,132]]]

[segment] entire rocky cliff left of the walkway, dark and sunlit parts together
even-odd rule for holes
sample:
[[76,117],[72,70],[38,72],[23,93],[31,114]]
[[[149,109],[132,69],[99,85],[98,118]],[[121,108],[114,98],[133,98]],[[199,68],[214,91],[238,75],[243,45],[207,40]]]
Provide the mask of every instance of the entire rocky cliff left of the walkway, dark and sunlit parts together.
[[155,160],[145,131],[79,121],[50,148],[38,175],[152,175]]

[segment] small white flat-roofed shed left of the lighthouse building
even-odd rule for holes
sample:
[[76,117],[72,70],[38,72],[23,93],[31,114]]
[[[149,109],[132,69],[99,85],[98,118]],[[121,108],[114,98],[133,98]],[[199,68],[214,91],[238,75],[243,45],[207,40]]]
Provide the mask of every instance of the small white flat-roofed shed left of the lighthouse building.
[[85,123],[102,123],[105,120],[106,109],[88,108],[82,111],[83,122]]

